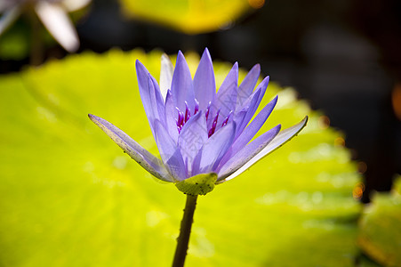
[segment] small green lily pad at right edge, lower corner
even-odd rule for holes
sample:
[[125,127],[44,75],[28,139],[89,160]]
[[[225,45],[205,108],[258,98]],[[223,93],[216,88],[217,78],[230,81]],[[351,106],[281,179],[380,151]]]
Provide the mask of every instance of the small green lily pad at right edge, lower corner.
[[400,182],[392,193],[376,193],[360,221],[359,246],[383,266],[401,266]]

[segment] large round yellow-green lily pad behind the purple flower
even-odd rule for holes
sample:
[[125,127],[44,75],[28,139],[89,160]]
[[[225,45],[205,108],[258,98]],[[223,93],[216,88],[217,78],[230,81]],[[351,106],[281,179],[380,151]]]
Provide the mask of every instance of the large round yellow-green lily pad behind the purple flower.
[[[185,196],[153,179],[87,117],[108,119],[157,153],[134,61],[158,79],[160,56],[84,53],[0,77],[0,266],[171,264]],[[194,74],[198,56],[187,59]],[[215,62],[218,83],[229,69]],[[354,265],[356,166],[342,135],[293,89],[271,83],[262,105],[277,93],[262,130],[305,115],[309,125],[198,198],[188,266]]]

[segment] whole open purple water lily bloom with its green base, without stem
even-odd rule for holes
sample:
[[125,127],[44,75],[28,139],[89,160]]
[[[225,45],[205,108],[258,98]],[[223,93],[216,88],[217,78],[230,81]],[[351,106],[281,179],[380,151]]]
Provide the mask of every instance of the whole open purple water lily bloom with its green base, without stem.
[[140,61],[136,61],[136,72],[140,98],[161,159],[105,119],[89,117],[150,174],[176,183],[187,194],[203,195],[213,190],[214,184],[242,174],[298,134],[308,120],[305,117],[281,132],[281,125],[277,125],[252,141],[277,103],[276,97],[251,121],[269,77],[254,89],[261,72],[258,64],[238,85],[236,62],[216,93],[207,49],[193,79],[180,52],[175,68],[166,55],[162,56],[160,85]]

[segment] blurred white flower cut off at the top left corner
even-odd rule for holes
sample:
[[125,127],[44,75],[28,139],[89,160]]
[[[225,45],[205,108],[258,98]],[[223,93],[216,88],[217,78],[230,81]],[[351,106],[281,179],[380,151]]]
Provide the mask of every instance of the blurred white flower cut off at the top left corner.
[[1,0],[0,36],[17,20],[21,12],[33,9],[44,27],[68,52],[79,47],[76,29],[67,12],[84,8],[91,0]]

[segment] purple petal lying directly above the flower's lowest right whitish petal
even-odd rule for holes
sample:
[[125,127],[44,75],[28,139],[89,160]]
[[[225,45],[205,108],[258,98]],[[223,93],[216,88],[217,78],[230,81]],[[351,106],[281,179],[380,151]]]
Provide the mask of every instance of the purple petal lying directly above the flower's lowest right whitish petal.
[[257,154],[261,152],[268,144],[273,140],[273,138],[280,131],[281,125],[269,130],[265,134],[262,134],[253,142],[250,142],[242,150],[239,150],[237,154],[234,154],[229,160],[220,167],[218,176],[219,181],[227,178],[230,174],[236,172],[241,166],[244,166],[248,161],[254,158]]

